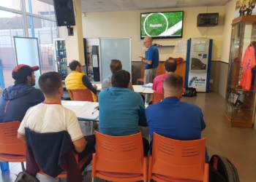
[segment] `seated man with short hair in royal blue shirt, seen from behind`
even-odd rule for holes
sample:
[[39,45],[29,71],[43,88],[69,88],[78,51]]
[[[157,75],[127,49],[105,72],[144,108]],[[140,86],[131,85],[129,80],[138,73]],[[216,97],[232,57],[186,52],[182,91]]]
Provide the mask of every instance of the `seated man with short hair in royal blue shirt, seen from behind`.
[[[201,131],[206,128],[202,110],[191,103],[178,100],[184,92],[183,78],[178,74],[165,77],[164,99],[160,103],[146,108],[146,119],[151,138],[156,132],[166,138],[180,141],[192,141],[201,138]],[[154,138],[152,138],[154,144]],[[208,154],[206,151],[206,162]]]

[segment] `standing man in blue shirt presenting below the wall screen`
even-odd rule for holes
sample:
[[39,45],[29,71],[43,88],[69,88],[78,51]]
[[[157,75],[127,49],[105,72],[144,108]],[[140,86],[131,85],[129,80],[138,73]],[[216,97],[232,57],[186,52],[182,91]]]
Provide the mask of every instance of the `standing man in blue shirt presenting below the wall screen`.
[[[145,63],[144,84],[153,83],[154,78],[157,76],[157,66],[159,63],[159,52],[157,47],[152,45],[153,39],[150,36],[146,36],[143,39],[143,46],[148,48],[146,58],[140,56],[140,60]],[[145,103],[148,104],[150,94],[146,94]]]

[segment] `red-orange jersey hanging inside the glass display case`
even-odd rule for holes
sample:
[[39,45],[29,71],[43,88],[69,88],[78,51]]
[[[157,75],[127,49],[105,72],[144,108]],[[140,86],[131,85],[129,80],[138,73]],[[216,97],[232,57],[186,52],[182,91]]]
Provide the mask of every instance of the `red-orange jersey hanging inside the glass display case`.
[[241,86],[244,90],[249,90],[252,84],[252,68],[255,67],[255,48],[253,46],[247,47],[241,66],[244,66]]

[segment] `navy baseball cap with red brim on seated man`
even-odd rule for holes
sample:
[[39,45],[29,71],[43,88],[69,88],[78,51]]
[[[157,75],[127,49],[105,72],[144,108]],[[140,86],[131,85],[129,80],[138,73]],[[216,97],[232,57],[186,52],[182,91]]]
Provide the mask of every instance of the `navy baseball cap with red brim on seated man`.
[[24,78],[26,76],[31,76],[32,71],[39,70],[38,66],[28,66],[28,65],[18,65],[12,70],[12,78],[17,80],[19,78]]

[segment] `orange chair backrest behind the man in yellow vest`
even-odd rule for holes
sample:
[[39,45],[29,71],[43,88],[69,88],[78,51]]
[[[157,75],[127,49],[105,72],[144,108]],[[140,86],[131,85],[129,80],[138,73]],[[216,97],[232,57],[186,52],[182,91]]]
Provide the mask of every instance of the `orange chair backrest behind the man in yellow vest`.
[[72,94],[73,100],[77,101],[89,101],[93,102],[94,99],[92,98],[91,95],[91,90],[86,89],[86,90],[69,90]]

